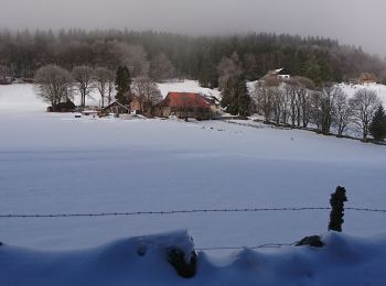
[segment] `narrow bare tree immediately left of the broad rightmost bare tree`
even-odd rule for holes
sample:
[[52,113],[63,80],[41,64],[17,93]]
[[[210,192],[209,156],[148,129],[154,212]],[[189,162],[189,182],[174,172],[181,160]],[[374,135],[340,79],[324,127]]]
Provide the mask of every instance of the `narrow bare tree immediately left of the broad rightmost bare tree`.
[[337,129],[337,135],[342,136],[351,123],[353,114],[352,106],[349,105],[347,95],[342,89],[339,89],[336,92],[334,110],[334,125]]

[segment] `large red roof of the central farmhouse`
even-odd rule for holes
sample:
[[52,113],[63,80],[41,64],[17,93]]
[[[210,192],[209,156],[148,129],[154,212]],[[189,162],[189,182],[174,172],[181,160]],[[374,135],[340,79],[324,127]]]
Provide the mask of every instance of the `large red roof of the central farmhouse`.
[[161,106],[172,108],[210,108],[208,100],[200,94],[169,92]]

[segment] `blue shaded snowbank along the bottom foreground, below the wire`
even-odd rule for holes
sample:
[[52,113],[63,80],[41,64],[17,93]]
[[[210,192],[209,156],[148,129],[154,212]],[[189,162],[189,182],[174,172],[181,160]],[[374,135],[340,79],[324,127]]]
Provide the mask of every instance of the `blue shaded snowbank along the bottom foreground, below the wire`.
[[193,278],[182,278],[167,262],[169,248],[191,253],[180,231],[115,241],[101,246],[42,252],[0,246],[2,285],[383,285],[386,237],[358,239],[339,233],[324,248],[289,246],[276,253],[245,249],[213,260],[199,252]]

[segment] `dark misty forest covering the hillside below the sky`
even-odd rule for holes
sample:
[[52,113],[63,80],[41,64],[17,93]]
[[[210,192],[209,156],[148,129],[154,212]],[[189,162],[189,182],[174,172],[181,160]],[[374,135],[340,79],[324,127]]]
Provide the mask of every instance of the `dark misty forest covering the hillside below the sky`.
[[229,64],[245,72],[248,80],[286,67],[317,85],[349,80],[362,72],[382,78],[386,70],[385,62],[361,47],[320,37],[266,33],[187,36],[128,30],[0,33],[2,75],[32,78],[39,67],[53,63],[67,69],[77,65],[116,69],[125,64],[133,77],[192,78],[208,87],[218,85],[221,73]]

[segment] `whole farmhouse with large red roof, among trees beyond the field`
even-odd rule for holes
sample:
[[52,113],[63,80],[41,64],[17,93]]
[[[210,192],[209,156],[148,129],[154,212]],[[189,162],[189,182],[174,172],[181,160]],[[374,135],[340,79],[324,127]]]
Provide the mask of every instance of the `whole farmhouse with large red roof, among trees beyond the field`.
[[165,99],[156,106],[154,116],[210,119],[213,117],[212,102],[200,94],[169,92]]

